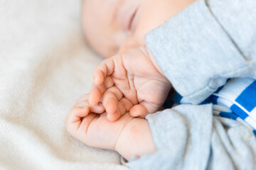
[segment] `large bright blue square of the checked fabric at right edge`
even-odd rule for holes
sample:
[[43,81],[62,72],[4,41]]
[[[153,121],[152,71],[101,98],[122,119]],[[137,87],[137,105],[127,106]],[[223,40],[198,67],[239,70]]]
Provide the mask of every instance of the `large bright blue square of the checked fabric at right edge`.
[[236,102],[240,103],[247,111],[252,111],[256,106],[256,81],[253,81],[250,86],[242,91],[240,96],[235,99]]

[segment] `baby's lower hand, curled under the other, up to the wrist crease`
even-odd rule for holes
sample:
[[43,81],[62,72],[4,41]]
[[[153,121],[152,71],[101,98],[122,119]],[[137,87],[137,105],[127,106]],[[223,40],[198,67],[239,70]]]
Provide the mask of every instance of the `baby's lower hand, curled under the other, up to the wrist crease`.
[[66,129],[86,145],[115,150],[120,132],[134,118],[126,113],[112,123],[107,120],[101,103],[90,106],[87,99],[88,95],[85,94],[75,103],[66,117]]

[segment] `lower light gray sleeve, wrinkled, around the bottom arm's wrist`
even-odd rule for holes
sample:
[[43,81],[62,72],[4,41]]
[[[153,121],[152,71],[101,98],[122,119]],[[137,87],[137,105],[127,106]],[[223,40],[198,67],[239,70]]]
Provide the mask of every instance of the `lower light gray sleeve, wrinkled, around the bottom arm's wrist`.
[[157,151],[126,165],[149,170],[253,169],[256,140],[252,131],[235,120],[221,122],[212,109],[210,104],[180,105],[147,115]]

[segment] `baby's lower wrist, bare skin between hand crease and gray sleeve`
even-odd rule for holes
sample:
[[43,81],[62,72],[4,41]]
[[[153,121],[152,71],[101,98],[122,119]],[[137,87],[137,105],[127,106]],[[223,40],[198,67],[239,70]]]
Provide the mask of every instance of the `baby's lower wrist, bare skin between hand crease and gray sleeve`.
[[131,120],[119,135],[115,150],[127,160],[155,152],[148,121],[142,118]]

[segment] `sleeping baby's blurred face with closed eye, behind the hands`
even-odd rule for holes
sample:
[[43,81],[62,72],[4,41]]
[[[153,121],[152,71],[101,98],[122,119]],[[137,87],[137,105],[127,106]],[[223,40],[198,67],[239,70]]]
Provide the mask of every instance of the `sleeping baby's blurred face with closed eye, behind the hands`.
[[82,24],[105,57],[145,45],[144,36],[196,0],[84,0]]

